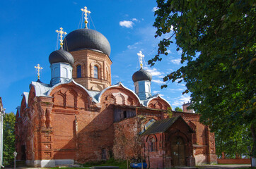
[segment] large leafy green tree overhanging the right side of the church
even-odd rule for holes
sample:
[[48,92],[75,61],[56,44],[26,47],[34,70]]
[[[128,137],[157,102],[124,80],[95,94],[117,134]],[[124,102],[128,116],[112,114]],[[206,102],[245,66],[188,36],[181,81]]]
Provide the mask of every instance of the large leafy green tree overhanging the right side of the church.
[[[178,70],[164,82],[186,82],[191,108],[202,114],[223,142],[240,130],[250,130],[256,157],[256,27],[253,0],[157,0],[153,24],[156,36],[165,34],[152,66],[168,55],[170,44],[182,50]],[[167,84],[162,86],[167,87]],[[246,124],[246,125],[245,125]]]

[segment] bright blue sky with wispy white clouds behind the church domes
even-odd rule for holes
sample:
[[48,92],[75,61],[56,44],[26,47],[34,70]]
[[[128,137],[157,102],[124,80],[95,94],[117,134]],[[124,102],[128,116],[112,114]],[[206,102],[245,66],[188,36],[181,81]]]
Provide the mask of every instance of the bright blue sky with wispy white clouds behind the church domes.
[[[88,28],[101,32],[111,46],[112,84],[122,82],[134,90],[132,75],[139,70],[139,51],[147,62],[157,53],[153,10],[150,0],[74,0],[74,1],[0,1],[0,96],[6,112],[16,112],[21,94],[29,91],[31,81],[37,80],[34,68],[42,66],[40,80],[50,82],[50,53],[57,49],[57,33],[63,27],[67,33],[81,28],[81,8],[88,7]],[[84,25],[83,25],[84,27]],[[168,36],[168,35],[165,35]],[[58,42],[59,43],[59,42]],[[163,77],[180,68],[180,52],[170,46],[169,55],[156,63],[151,71],[152,94],[160,93],[174,109],[190,99],[182,95],[185,84],[168,83],[161,89]]]

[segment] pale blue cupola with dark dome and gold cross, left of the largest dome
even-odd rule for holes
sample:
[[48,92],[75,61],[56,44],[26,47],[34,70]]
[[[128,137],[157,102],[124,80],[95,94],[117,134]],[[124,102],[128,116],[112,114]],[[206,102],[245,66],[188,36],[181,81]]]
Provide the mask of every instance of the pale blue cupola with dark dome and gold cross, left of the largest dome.
[[65,35],[66,32],[63,31],[62,27],[60,27],[60,30],[57,30],[56,32],[58,32],[60,35],[59,41],[61,42],[61,47],[57,51],[52,51],[49,56],[49,62],[51,64],[50,68],[52,70],[52,78],[50,83],[52,86],[61,82],[69,82],[69,80],[72,79],[72,65],[74,64],[73,56],[68,51],[64,51],[63,49],[62,35]]

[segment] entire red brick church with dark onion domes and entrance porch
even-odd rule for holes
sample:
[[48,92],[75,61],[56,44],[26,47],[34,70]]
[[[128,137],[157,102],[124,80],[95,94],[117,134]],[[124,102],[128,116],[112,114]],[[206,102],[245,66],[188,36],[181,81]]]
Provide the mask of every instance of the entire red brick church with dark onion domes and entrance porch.
[[18,160],[36,167],[110,157],[142,158],[151,168],[216,163],[214,133],[187,104],[184,112],[171,111],[165,99],[151,95],[152,75],[142,65],[131,77],[134,91],[111,84],[104,35],[86,26],[61,46],[49,56],[50,84],[31,82],[17,108]]

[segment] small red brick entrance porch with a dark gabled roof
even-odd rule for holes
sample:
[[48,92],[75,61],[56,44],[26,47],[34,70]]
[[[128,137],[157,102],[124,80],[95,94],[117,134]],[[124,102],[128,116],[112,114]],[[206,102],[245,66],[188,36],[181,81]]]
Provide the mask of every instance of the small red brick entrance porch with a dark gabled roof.
[[142,156],[150,168],[194,166],[192,133],[180,116],[158,120],[142,134]]

